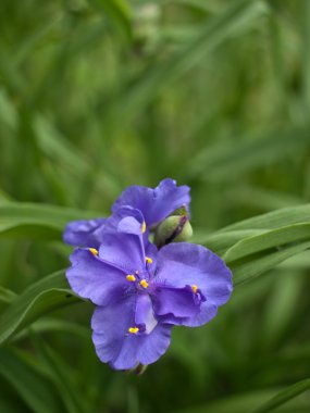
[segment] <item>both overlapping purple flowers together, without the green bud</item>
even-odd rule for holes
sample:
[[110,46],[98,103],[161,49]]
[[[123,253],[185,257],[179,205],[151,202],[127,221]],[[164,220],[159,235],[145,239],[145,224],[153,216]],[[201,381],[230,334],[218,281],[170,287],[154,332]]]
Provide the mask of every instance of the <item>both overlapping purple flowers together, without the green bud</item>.
[[149,233],[190,202],[189,187],[164,179],[132,186],[108,218],[67,225],[75,247],[66,272],[71,288],[96,304],[92,340],[99,359],[116,370],[157,361],[174,325],[208,323],[232,293],[232,273],[204,247],[172,242],[160,250]]

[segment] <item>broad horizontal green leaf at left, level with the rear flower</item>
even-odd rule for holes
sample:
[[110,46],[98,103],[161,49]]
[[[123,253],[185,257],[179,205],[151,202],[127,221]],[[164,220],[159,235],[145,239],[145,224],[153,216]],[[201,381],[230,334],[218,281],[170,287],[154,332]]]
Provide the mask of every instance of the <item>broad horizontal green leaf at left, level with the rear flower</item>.
[[70,221],[95,216],[100,216],[100,213],[46,204],[5,202],[0,205],[0,237],[61,239]]

